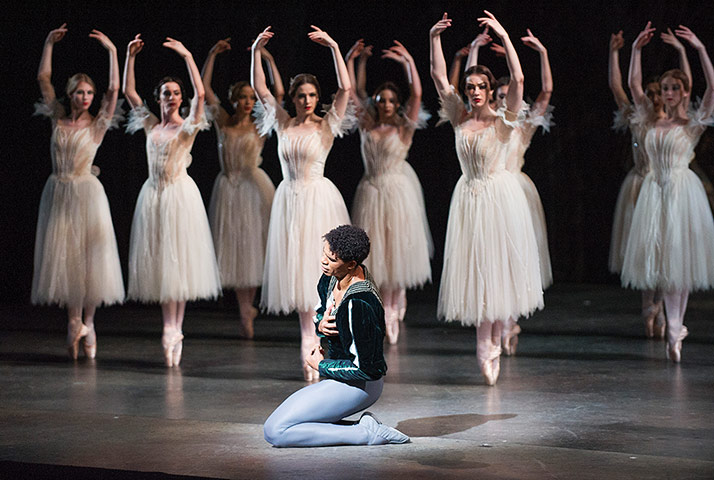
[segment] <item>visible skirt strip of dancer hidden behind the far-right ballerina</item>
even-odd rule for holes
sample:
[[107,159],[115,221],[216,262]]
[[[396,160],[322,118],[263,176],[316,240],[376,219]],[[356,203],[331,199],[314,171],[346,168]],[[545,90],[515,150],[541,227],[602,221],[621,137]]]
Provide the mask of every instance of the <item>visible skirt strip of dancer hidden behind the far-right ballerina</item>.
[[620,193],[615,203],[615,218],[612,221],[612,237],[610,239],[609,267],[612,273],[622,271],[622,262],[625,259],[627,239],[630,237],[632,214],[635,211],[637,197],[640,194],[644,177],[635,169],[629,171],[622,182]]

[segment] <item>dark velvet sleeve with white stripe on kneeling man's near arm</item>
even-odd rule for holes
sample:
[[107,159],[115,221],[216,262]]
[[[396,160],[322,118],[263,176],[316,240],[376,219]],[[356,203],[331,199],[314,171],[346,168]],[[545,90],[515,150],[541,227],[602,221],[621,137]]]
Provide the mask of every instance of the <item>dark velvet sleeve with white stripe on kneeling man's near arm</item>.
[[[384,332],[379,326],[375,306],[359,299],[347,305],[349,332],[340,332],[340,338],[351,340],[349,353],[352,359],[325,359],[320,362],[320,375],[338,381],[377,380],[386,373],[382,352]],[[343,340],[343,345],[348,343]]]

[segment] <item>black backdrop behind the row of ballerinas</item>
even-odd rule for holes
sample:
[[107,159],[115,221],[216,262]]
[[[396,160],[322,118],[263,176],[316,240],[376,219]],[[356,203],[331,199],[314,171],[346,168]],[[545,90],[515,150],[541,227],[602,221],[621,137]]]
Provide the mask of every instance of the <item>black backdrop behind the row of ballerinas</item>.
[[[33,117],[39,98],[37,66],[47,33],[68,23],[69,32],[56,45],[53,84],[61,96],[67,78],[88,73],[101,94],[107,85],[107,54],[87,37],[92,28],[114,41],[123,68],[126,44],[142,33],[144,50],[137,60],[137,89],[155,112],[151,92],[164,75],[188,80],[181,59],[161,46],[164,37],[181,40],[193,53],[199,68],[210,47],[232,37],[233,51],[218,57],[214,90],[225,98],[228,85],[248,79],[250,56],[244,50],[267,25],[275,38],[268,45],[283,81],[311,72],[322,83],[324,101],[336,89],[328,49],[310,42],[310,24],[326,30],[343,55],[360,37],[376,50],[392,39],[402,41],[418,64],[424,85],[424,104],[436,116],[438,102],[429,77],[429,28],[448,11],[453,27],[442,36],[447,62],[480,31],[476,19],[488,8],[501,21],[516,44],[526,75],[526,95],[540,89],[538,54],[518,38],[531,28],[548,48],[553,70],[556,126],[550,134],[537,134],[526,155],[525,171],[536,183],[548,220],[548,234],[556,282],[614,283],[607,271],[612,212],[617,192],[630,167],[625,135],[610,129],[615,104],[607,86],[610,33],[624,30],[626,46],[621,67],[627,74],[632,40],[652,20],[658,29],[684,24],[714,51],[710,2],[656,1],[192,1],[192,2],[28,2],[19,3],[3,20],[2,77],[4,88],[2,142],[2,297],[6,304],[27,304],[32,280],[32,256],[40,193],[51,173],[50,122]],[[704,90],[696,52],[688,48],[694,76],[694,96]],[[507,73],[505,63],[482,49],[480,62],[496,76]],[[645,77],[678,66],[676,52],[659,38],[644,52]],[[397,80],[406,88],[401,69],[393,62],[373,57],[368,65],[368,89],[384,80]],[[95,102],[94,109],[97,108]],[[414,137],[409,161],[419,175],[435,243],[434,282],[441,272],[449,200],[460,170],[449,126],[430,127]],[[107,134],[96,158],[112,209],[121,262],[126,269],[134,204],[146,179],[145,138],[114,130]],[[714,176],[711,132],[698,149],[698,164]],[[280,166],[276,140],[266,142],[263,168],[277,184]],[[190,175],[208,203],[219,171],[215,133],[203,132],[193,148]],[[362,174],[358,135],[336,140],[326,175],[342,192],[348,207]],[[125,277],[126,280],[126,277]],[[438,283],[437,283],[438,284]]]

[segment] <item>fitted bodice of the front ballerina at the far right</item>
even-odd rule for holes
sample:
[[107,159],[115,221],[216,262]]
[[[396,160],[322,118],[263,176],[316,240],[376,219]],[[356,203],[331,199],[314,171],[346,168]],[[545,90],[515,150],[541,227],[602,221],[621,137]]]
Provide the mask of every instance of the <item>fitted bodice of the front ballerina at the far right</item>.
[[699,140],[684,126],[669,130],[650,128],[645,135],[645,150],[649,158],[650,171],[657,183],[669,180],[672,173],[686,170],[694,159],[694,147]]

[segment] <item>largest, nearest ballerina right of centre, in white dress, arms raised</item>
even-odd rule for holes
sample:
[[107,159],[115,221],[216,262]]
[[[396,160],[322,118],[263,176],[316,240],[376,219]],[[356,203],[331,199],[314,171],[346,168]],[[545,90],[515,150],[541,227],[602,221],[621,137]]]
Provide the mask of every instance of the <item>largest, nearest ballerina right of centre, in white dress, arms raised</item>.
[[431,76],[441,99],[439,115],[454,127],[462,176],[451,199],[444,246],[438,315],[476,325],[476,354],[488,385],[500,370],[502,322],[543,306],[538,247],[523,189],[506,170],[508,143],[517,125],[523,74],[511,40],[488,11],[478,19],[501,38],[511,83],[505,108],[489,100],[495,79],[483,66],[465,74],[463,92],[449,86],[441,33],[451,26],[444,14],[430,31]]

